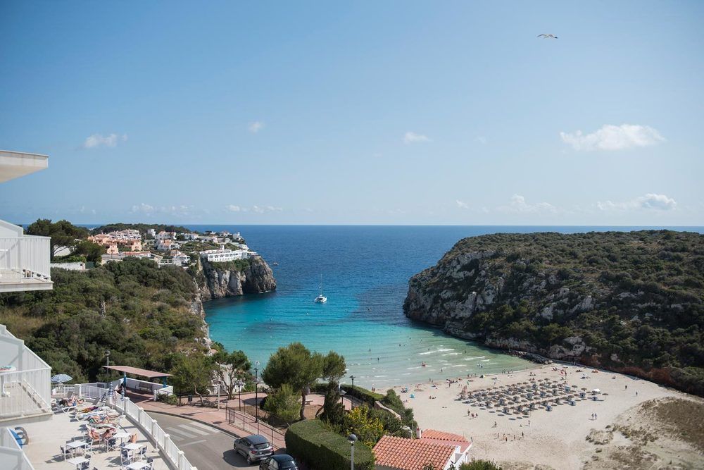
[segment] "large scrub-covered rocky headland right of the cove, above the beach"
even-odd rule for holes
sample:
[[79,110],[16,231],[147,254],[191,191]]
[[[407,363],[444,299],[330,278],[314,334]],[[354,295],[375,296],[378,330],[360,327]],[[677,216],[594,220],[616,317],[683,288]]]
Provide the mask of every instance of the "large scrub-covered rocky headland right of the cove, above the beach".
[[411,319],[704,395],[704,236],[496,234],[410,279]]

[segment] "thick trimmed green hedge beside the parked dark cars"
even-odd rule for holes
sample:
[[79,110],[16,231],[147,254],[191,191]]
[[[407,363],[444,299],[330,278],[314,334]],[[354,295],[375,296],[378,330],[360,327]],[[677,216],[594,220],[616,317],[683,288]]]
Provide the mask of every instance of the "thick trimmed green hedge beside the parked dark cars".
[[[286,451],[312,469],[347,470],[351,466],[349,441],[325,427],[319,419],[291,424],[286,431]],[[374,470],[374,454],[363,443],[354,445],[354,467]]]

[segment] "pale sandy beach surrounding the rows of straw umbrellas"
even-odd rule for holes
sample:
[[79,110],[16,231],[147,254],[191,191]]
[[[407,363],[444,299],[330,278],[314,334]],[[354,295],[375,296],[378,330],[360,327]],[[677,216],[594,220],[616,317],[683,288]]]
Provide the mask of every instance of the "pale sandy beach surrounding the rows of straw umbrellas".
[[[574,405],[563,401],[549,412],[539,407],[529,416],[515,412],[504,414],[501,409],[486,409],[457,400],[465,385],[469,391],[498,389],[501,385],[533,383],[531,379],[548,379],[548,382],[576,385],[580,391],[586,388],[587,400],[577,400]],[[620,419],[620,415],[648,400],[672,397],[703,402],[698,397],[639,378],[603,370],[593,372],[591,368],[566,364],[536,366],[534,369],[484,378],[477,376],[467,379],[465,376],[453,380],[457,382],[449,385],[438,381],[434,384],[414,383],[406,385],[408,392],[401,392],[401,387],[396,387],[395,390],[406,401],[406,406],[413,408],[421,429],[434,428],[465,435],[473,441],[470,453],[474,458],[500,462],[505,469],[545,468],[544,466],[553,469],[581,469],[588,463],[591,465],[589,468],[599,468],[593,464],[606,454],[596,454],[598,457],[594,457],[595,452],[602,450],[597,450],[597,446],[587,440],[593,431],[608,432]],[[589,392],[596,388],[603,395],[597,395],[597,400],[593,401]],[[410,397],[411,394],[414,398]],[[471,417],[468,412],[477,416]],[[629,445],[628,442],[618,442],[619,438],[625,439],[617,436],[615,444]],[[608,464],[603,468],[608,468]]]

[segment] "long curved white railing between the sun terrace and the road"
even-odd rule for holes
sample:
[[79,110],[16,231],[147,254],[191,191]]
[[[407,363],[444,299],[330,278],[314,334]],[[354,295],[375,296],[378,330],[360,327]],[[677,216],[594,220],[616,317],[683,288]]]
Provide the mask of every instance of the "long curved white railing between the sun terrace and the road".
[[[89,395],[102,396],[108,392],[107,388],[98,387],[96,384],[80,384],[80,385],[63,385],[62,390],[67,390],[68,387],[75,387],[83,394],[84,392]],[[58,389],[58,387],[57,387]],[[74,389],[75,391],[76,389]],[[89,395],[82,395],[83,397],[89,398]],[[125,414],[127,419],[130,419],[132,423],[139,426],[142,433],[148,438],[153,445],[156,445],[158,450],[165,456],[168,464],[176,470],[198,470],[195,466],[192,466],[184,455],[182,450],[179,450],[177,445],[171,440],[170,435],[164,432],[161,426],[158,425],[155,419],[153,419],[144,409],[138,407],[136,404],[132,403],[129,398],[125,398],[123,401],[120,395],[115,395],[115,404],[113,405],[118,412]]]

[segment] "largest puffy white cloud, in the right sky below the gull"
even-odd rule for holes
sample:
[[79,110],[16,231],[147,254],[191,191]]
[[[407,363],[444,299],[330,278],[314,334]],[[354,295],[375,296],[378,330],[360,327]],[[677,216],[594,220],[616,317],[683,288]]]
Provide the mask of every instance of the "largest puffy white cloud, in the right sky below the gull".
[[577,132],[560,132],[562,142],[572,145],[577,151],[592,150],[622,150],[633,147],[650,147],[665,142],[665,137],[658,130],[648,125],[605,124],[601,129],[591,134]]

